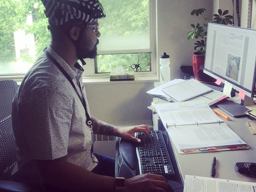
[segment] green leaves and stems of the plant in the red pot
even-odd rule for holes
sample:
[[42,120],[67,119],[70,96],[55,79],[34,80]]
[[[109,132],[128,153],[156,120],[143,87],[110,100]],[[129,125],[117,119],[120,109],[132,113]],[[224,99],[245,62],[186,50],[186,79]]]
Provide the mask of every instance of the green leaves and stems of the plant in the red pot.
[[205,8],[199,8],[199,9],[192,10],[192,12],[190,13],[192,16],[193,15],[196,15],[196,16],[201,15],[204,18],[205,22],[204,22],[203,26],[200,26],[199,23],[191,24],[192,30],[190,30],[187,33],[188,40],[194,39],[194,38],[195,39],[201,38],[201,40],[197,40],[196,43],[194,43],[194,50],[197,50],[195,52],[195,54],[199,54],[199,55],[205,54],[206,38],[207,38],[207,25],[209,22],[217,23],[217,24],[224,24],[224,25],[233,24],[233,22],[232,22],[233,16],[228,15],[228,10],[225,10],[222,12],[222,10],[219,9],[218,14],[213,15],[214,16],[213,21],[211,21],[210,18],[204,17],[204,15],[203,15],[204,11],[206,11]]

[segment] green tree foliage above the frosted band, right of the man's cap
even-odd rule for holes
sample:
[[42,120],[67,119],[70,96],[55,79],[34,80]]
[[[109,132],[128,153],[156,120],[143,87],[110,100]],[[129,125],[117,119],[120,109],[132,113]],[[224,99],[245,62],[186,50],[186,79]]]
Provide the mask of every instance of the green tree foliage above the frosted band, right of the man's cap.
[[107,35],[135,35],[149,31],[149,0],[101,0],[106,18],[100,32]]

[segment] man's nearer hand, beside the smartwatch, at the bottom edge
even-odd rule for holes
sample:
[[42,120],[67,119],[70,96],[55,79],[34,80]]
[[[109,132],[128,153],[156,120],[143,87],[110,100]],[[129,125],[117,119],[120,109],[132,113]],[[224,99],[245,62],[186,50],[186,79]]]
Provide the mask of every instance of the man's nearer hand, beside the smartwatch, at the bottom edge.
[[125,192],[173,192],[173,190],[163,176],[143,174],[126,179]]

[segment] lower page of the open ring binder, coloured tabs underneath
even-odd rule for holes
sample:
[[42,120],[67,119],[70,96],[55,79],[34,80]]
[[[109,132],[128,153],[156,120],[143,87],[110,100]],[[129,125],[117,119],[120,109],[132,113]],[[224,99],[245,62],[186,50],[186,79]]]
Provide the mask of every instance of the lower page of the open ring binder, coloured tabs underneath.
[[167,130],[178,152],[192,150],[192,152],[206,152],[207,148],[247,147],[226,123],[176,126]]

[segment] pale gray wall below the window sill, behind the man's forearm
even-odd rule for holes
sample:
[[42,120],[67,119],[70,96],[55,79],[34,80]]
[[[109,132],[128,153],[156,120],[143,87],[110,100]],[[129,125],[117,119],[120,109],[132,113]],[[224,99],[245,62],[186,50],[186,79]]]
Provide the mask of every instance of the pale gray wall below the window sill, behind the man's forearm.
[[[131,122],[151,119],[147,108],[152,97],[146,91],[154,88],[154,83],[109,83],[85,85],[90,112],[98,119],[120,125],[123,121]],[[139,122],[140,123],[140,122]]]

